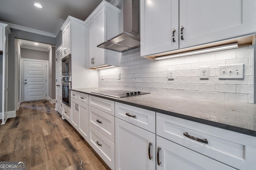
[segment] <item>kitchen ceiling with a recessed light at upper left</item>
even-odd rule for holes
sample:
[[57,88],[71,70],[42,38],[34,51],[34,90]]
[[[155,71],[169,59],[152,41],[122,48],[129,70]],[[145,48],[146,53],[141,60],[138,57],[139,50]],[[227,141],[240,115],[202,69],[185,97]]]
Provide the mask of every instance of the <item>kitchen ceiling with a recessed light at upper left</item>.
[[[116,0],[106,0],[113,4]],[[120,0],[119,0],[120,1]],[[44,8],[36,8],[33,2]],[[9,27],[56,37],[68,16],[86,18],[102,0],[0,0],[0,22]]]

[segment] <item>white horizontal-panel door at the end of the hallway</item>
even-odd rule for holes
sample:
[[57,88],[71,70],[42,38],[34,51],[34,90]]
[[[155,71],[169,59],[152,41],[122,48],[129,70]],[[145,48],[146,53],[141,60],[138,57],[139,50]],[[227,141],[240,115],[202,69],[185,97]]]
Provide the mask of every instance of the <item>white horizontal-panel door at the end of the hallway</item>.
[[46,100],[46,61],[24,60],[24,102]]

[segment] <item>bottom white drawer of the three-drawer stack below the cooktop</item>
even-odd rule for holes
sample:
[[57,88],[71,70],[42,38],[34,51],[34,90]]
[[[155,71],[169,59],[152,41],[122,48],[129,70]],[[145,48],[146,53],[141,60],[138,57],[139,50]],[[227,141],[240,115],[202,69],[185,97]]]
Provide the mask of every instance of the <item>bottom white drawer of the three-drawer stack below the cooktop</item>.
[[89,125],[89,144],[113,170],[115,167],[115,145]]

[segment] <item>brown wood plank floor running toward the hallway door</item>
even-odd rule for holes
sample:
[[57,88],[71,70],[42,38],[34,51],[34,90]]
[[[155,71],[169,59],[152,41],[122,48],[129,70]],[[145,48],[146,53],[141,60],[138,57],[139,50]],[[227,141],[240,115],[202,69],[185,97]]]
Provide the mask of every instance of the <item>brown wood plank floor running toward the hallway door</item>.
[[48,101],[22,103],[0,125],[0,161],[25,161],[27,170],[109,170]]

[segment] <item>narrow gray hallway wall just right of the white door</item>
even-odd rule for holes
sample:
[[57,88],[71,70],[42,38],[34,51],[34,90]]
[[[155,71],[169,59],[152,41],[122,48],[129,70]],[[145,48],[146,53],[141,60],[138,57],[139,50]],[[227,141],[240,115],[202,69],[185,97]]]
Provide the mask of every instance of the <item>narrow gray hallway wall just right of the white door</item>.
[[49,97],[55,99],[55,47],[49,51]]

